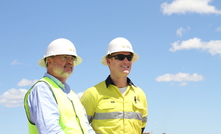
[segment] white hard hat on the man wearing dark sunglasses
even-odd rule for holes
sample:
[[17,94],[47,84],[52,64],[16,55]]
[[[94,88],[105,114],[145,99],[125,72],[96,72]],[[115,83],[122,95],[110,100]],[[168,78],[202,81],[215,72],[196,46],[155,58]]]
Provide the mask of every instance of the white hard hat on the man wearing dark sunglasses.
[[107,66],[106,57],[109,54],[116,53],[116,52],[131,52],[133,53],[133,59],[132,63],[138,60],[139,56],[133,51],[131,43],[123,38],[123,37],[117,37],[113,39],[107,48],[106,55],[101,58],[101,63]]

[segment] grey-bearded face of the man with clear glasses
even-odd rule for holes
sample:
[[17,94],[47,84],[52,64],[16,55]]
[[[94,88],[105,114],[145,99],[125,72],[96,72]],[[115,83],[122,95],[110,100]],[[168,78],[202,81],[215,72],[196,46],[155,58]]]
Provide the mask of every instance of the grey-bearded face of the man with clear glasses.
[[48,69],[55,77],[69,77],[74,70],[75,58],[71,55],[57,55],[48,59]]

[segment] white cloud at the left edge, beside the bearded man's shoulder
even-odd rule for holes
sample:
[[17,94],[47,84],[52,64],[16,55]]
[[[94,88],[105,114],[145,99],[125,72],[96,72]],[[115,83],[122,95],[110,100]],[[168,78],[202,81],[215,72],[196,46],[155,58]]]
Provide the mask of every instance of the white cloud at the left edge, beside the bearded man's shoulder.
[[23,106],[23,100],[26,92],[26,89],[9,89],[0,95],[0,104],[6,107]]

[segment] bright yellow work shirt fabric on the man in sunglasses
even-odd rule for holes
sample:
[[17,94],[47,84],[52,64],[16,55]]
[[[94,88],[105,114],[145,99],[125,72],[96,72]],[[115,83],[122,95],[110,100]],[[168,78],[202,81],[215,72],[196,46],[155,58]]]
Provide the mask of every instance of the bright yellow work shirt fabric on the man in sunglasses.
[[[112,84],[106,87],[105,81],[85,91],[81,102],[86,109],[88,117],[92,118],[91,125],[96,133],[100,134],[141,134],[146,126],[147,101],[144,92],[135,86],[128,86],[123,96],[118,88]],[[102,115],[111,114],[111,119]],[[138,114],[142,120],[131,117],[124,118],[119,114]],[[96,115],[101,115],[95,119]],[[116,114],[116,115],[115,115]],[[121,118],[115,118],[121,116]]]

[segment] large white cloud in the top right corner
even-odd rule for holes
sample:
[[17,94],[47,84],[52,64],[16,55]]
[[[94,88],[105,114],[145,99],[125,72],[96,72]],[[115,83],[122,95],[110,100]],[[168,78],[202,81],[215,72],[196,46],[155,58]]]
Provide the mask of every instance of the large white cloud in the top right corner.
[[221,10],[209,5],[211,0],[174,0],[168,4],[166,2],[161,4],[163,14],[171,15],[173,13],[185,14],[199,13],[199,14],[221,14]]

